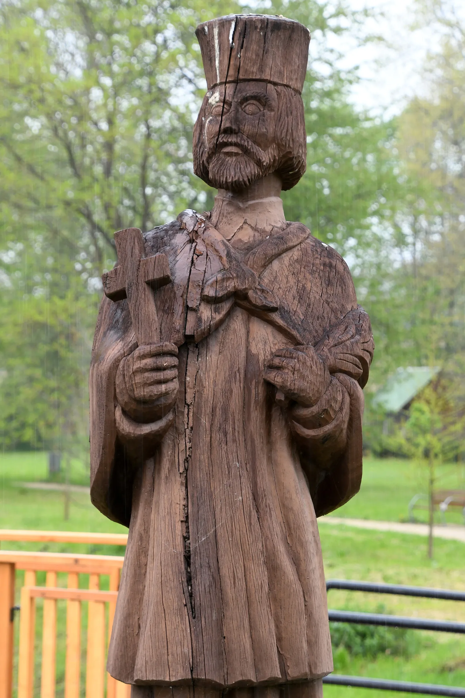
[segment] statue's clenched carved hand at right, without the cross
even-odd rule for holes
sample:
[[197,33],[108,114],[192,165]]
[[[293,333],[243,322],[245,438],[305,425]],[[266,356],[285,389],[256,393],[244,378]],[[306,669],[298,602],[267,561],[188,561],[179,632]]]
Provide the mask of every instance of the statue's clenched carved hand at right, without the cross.
[[316,405],[330,385],[330,373],[311,345],[278,349],[266,363],[264,379],[287,398]]

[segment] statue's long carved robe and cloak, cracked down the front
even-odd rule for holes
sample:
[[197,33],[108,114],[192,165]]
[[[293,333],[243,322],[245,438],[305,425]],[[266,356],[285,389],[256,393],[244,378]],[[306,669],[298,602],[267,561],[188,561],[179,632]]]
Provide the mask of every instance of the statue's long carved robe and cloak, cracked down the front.
[[[155,304],[163,340],[179,347],[180,387],[161,441],[160,424],[121,415],[116,369],[136,343],[125,300],[104,297],[91,497],[130,527],[109,672],[218,688],[324,676],[333,663],[316,516],[360,487],[360,385],[373,350],[349,270],[298,223],[247,255],[190,211],[145,239],[174,278]],[[312,408],[280,406],[264,363],[308,343],[330,387]]]

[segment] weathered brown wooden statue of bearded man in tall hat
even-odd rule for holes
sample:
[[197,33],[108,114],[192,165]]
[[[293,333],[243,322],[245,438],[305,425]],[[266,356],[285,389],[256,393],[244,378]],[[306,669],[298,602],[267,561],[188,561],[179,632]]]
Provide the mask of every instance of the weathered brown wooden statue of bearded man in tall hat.
[[91,496],[129,526],[108,669],[132,698],[321,698],[317,516],[362,474],[373,339],[333,248],[284,219],[310,35],[197,29],[194,168],[213,210],[115,234],[91,365]]

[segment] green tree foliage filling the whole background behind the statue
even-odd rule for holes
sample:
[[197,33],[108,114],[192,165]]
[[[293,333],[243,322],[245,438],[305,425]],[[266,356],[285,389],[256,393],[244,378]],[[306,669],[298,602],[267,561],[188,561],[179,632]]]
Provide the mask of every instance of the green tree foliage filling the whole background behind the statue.
[[[441,6],[441,0],[427,4]],[[95,293],[100,274],[114,263],[114,230],[146,230],[185,207],[211,207],[213,191],[192,173],[192,124],[205,87],[194,31],[211,17],[250,9],[293,17],[312,31],[303,91],[307,173],[284,193],[284,209],[349,262],[376,342],[368,390],[401,365],[464,372],[465,134],[457,32],[436,57],[431,98],[413,100],[399,119],[386,122],[349,101],[357,75],[338,67],[334,37],[356,38],[365,15],[343,2],[278,0],[248,8],[234,0],[208,6],[200,0],[8,0],[0,8],[0,286],[2,330],[16,344],[15,352],[10,342],[0,348],[0,429],[7,447],[57,438],[50,415],[62,411],[47,366],[60,366],[68,386],[63,404],[85,402]],[[39,331],[29,310],[23,320],[23,310],[30,306],[33,315],[57,319],[69,304],[79,322],[70,320],[70,332],[67,322],[52,320],[50,332],[63,349],[52,361],[56,347],[47,353],[29,339],[47,336],[47,320]],[[69,317],[74,312],[68,309]],[[452,380],[450,391],[457,413],[465,390]],[[382,422],[367,397],[367,443],[374,450],[379,443],[382,452],[388,448]],[[85,420],[64,423],[71,422]],[[456,430],[456,441],[461,434]]]

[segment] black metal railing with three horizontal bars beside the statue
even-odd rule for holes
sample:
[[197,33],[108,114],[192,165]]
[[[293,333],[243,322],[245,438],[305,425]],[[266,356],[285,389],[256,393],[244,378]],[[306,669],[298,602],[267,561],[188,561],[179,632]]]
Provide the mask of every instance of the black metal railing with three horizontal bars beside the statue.
[[[346,579],[328,579],[326,590],[346,589],[349,591],[367,591],[375,594],[397,594],[448,601],[465,601],[465,592],[446,589],[422,588],[421,586],[403,586],[401,584],[372,584],[369,581],[349,581]],[[352,611],[328,611],[330,621],[338,623],[357,623],[362,625],[383,625],[412,630],[434,630],[439,632],[458,632],[465,634],[465,623],[452,621],[430,621],[427,618],[407,618],[405,616],[388,616],[376,613],[356,613]],[[465,688],[459,686],[441,686],[434,683],[412,683],[411,681],[391,681],[386,678],[365,678],[364,676],[344,676],[331,674],[323,678],[323,683],[354,688],[376,688],[382,691],[420,693],[422,695],[450,696],[465,698]]]

